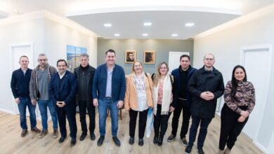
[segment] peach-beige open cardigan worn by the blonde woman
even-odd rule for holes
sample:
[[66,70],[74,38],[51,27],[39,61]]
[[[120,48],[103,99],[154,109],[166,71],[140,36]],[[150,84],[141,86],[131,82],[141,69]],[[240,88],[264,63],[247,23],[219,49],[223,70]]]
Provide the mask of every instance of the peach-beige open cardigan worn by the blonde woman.
[[[152,95],[152,79],[150,74],[148,77],[145,76],[145,93],[147,98],[148,107],[153,107],[153,95]],[[134,83],[134,73],[129,74],[126,76],[126,96],[124,97],[124,109],[138,109],[138,102],[137,102],[137,91],[136,85]]]

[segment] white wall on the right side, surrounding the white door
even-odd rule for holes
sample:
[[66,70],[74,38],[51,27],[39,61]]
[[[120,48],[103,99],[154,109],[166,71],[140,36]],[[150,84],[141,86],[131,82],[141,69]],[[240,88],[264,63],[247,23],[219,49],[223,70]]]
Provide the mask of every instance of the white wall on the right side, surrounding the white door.
[[[244,20],[244,17],[242,18]],[[194,41],[194,60],[195,67],[202,66],[202,59],[205,53],[211,52],[216,57],[216,69],[223,73],[224,82],[230,80],[232,69],[235,65],[240,64],[240,50],[243,46],[249,45],[265,45],[270,44],[274,46],[274,6],[268,7],[260,15],[254,14],[254,19],[246,20],[245,22],[233,25],[221,31],[216,31],[211,34],[198,37]],[[274,54],[272,54],[272,62],[274,61]],[[256,59],[254,59],[256,63]],[[270,65],[272,67],[273,64]],[[273,70],[270,68],[270,70]],[[254,70],[256,71],[256,70]],[[274,130],[274,71],[270,73],[270,84],[265,87],[268,92],[266,108],[264,109],[263,121],[260,125],[259,135],[255,141],[259,142],[263,147],[273,145],[270,143],[270,137]],[[248,74],[247,74],[248,76]],[[263,74],[258,74],[258,78],[263,80]],[[259,106],[260,102],[256,102]],[[256,107],[255,106],[255,107]],[[251,115],[252,116],[252,115]],[[273,139],[272,139],[273,141]],[[258,144],[258,143],[257,143]],[[265,148],[265,152],[268,148]]]

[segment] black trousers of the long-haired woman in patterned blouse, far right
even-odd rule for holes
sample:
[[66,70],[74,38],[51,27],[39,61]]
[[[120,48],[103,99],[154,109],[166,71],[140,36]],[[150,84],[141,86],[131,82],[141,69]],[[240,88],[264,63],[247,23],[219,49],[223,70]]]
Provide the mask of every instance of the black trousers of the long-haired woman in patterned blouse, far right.
[[[247,110],[247,106],[241,106],[240,109],[245,111]],[[223,105],[221,111],[221,133],[218,146],[221,150],[223,150],[226,145],[230,150],[233,148],[237,137],[242,132],[249,117],[242,123],[237,121],[238,118],[240,118],[238,113],[232,111],[226,104]]]

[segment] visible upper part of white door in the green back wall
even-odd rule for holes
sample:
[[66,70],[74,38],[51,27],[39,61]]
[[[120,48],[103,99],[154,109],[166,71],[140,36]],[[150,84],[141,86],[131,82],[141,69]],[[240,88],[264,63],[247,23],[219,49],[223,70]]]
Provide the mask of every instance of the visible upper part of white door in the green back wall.
[[181,55],[190,55],[190,52],[169,51],[169,73],[178,68]]

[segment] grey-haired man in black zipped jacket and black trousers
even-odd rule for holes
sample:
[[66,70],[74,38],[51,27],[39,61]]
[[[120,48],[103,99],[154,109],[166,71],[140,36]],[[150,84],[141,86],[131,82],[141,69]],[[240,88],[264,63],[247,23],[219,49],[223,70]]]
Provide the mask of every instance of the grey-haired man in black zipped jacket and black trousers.
[[93,106],[92,97],[92,81],[96,69],[89,65],[89,55],[82,53],[80,55],[80,66],[74,69],[74,74],[78,80],[77,102],[79,105],[79,114],[81,122],[81,137],[83,141],[87,135],[86,127],[86,109],[89,113],[89,132],[91,133],[91,140],[95,140],[95,107]]

